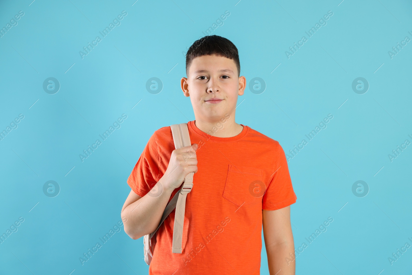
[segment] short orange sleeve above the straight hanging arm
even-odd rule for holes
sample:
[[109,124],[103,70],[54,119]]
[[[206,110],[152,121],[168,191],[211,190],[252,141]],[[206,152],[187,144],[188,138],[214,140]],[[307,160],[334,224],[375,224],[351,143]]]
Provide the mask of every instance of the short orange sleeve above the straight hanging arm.
[[275,147],[275,165],[274,176],[269,182],[265,195],[263,195],[262,209],[277,210],[287,207],[296,202],[296,195],[293,191],[292,181],[290,179],[288,162],[285,152],[281,145],[277,143]]

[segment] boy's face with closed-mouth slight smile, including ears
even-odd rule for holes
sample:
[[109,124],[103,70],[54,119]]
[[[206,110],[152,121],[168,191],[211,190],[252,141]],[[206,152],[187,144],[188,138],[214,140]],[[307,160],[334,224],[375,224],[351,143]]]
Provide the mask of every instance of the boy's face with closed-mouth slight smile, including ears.
[[205,122],[217,122],[227,114],[234,116],[237,97],[243,95],[245,87],[246,78],[238,77],[234,61],[217,55],[193,59],[188,78],[181,80],[195,119]]

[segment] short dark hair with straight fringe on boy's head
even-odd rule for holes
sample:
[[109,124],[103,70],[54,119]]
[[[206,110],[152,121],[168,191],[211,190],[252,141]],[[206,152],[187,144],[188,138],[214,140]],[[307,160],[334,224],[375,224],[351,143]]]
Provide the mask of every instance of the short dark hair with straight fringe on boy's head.
[[193,59],[212,54],[232,59],[236,64],[238,77],[240,76],[239,52],[236,46],[229,39],[219,35],[206,35],[193,42],[186,53],[186,76],[189,76]]

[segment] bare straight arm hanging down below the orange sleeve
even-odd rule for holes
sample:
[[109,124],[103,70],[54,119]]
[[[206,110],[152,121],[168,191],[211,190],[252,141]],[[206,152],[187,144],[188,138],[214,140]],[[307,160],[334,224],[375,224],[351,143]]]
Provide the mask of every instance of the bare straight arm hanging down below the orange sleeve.
[[290,227],[290,206],[262,210],[263,235],[270,275],[295,274],[295,245]]

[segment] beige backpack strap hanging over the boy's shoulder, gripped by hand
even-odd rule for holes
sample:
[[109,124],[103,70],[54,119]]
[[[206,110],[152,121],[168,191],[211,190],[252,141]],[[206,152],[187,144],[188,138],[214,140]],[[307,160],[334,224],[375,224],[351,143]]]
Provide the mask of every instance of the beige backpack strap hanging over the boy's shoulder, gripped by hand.
[[[170,127],[172,129],[173,141],[175,143],[176,149],[192,145],[190,143],[187,123],[174,124]],[[173,226],[172,253],[182,253],[183,223],[185,221],[186,197],[193,187],[193,174],[193,172],[187,174],[187,176],[183,180],[182,188],[178,193],[176,193],[176,195],[178,194],[178,198]],[[175,197],[173,197],[173,199]]]

